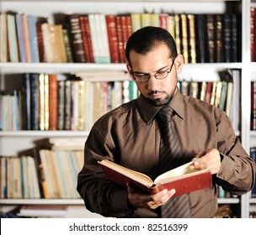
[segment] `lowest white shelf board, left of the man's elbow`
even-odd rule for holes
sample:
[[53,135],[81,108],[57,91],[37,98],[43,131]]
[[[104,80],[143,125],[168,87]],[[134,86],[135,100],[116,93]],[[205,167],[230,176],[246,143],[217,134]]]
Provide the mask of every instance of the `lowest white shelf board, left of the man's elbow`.
[[82,199],[0,199],[1,205],[83,205]]

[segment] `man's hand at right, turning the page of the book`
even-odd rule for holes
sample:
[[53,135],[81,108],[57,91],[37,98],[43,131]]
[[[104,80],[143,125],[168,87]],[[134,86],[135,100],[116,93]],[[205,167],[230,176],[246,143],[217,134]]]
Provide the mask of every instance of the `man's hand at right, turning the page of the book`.
[[217,149],[201,150],[195,155],[193,161],[194,164],[190,166],[191,169],[208,169],[211,170],[211,175],[221,170],[221,156]]

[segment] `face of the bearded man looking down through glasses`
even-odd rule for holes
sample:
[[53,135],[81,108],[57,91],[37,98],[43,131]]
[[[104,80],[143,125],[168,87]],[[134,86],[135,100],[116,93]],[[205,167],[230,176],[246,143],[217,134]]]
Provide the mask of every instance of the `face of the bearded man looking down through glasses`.
[[[172,99],[176,91],[177,73],[182,70],[183,56],[178,55],[173,61],[169,56],[167,45],[159,44],[148,52],[147,55],[141,55],[132,50],[130,59],[131,66],[127,65],[127,69],[132,79],[134,79],[133,73],[137,75],[151,75],[149,81],[136,81],[136,86],[138,86],[141,94],[146,97],[149,102],[152,102],[153,105],[166,105]],[[158,80],[153,76],[157,72],[169,71],[171,66],[172,70],[164,79]]]

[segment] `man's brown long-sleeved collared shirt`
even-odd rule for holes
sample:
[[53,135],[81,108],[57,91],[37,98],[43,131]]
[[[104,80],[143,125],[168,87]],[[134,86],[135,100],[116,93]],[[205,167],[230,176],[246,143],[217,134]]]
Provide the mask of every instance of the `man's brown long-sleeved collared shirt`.
[[[189,193],[190,217],[214,217],[216,184],[242,195],[254,183],[255,163],[241,146],[225,112],[206,102],[183,96],[179,91],[169,103],[176,112],[173,123],[179,135],[184,161],[202,149],[218,149],[221,170],[213,175],[213,186]],[[97,160],[111,159],[154,179],[157,175],[160,132],[154,118],[160,107],[144,97],[125,103],[94,124],[84,148],[84,166],[77,191],[89,211],[105,217],[157,217],[157,211],[132,209],[127,191],[105,178]]]

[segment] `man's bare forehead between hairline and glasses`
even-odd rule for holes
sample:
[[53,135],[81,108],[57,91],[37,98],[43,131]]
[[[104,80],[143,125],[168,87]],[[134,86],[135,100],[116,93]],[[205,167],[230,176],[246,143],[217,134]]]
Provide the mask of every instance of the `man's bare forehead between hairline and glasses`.
[[170,50],[166,44],[157,44],[145,55],[132,50],[130,60],[133,71],[139,72],[158,71],[172,62]]

